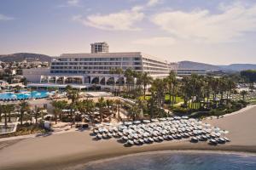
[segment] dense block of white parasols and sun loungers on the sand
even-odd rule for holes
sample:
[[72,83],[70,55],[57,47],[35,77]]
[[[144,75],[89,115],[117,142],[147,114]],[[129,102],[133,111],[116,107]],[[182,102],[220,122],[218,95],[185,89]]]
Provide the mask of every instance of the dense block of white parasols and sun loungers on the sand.
[[114,138],[125,146],[152,144],[173,139],[190,139],[192,143],[208,141],[209,144],[224,144],[230,142],[230,139],[222,137],[227,132],[193,118],[189,119],[187,116],[125,122],[119,126],[93,129],[95,139]]

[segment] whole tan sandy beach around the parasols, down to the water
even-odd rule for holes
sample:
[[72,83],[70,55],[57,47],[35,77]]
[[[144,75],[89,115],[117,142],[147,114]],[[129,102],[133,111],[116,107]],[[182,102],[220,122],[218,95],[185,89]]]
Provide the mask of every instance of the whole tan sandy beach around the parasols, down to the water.
[[155,150],[224,150],[256,153],[256,105],[230,116],[206,120],[230,131],[230,143],[212,146],[189,140],[124,147],[116,139],[94,141],[90,132],[77,131],[22,139],[0,150],[0,169],[64,169],[87,161]]

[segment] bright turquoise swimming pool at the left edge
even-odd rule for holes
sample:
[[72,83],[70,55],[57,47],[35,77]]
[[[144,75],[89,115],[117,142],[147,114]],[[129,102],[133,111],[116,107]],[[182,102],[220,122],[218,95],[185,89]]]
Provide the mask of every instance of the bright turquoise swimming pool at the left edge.
[[46,98],[51,93],[47,91],[32,91],[32,92],[21,92],[18,94],[15,93],[3,93],[0,94],[0,100],[17,100],[17,99],[41,99]]

